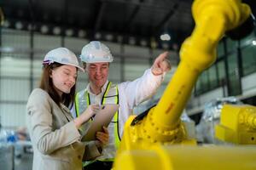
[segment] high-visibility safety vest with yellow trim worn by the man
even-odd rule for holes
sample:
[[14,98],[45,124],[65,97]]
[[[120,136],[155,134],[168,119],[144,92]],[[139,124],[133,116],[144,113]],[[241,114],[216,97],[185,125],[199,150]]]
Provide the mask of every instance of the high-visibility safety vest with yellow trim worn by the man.
[[[106,104],[119,104],[119,90],[117,85],[108,82],[107,88],[102,95],[101,105]],[[79,113],[82,113],[90,105],[90,94],[87,89],[79,92],[75,95],[75,111],[76,116],[79,116]],[[119,111],[116,111],[113,120],[110,123],[114,123],[114,144],[115,147],[119,148],[120,137],[119,137]]]

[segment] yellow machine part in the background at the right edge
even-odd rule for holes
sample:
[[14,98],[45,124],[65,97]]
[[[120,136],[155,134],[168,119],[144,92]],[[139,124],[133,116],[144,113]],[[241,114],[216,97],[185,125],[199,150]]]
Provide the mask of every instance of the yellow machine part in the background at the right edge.
[[234,144],[256,144],[256,107],[224,105],[215,136]]

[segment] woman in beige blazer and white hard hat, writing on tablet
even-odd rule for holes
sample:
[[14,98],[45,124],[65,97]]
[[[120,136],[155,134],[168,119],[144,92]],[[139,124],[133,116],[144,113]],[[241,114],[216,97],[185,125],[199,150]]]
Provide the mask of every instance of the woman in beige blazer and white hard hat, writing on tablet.
[[33,170],[81,170],[83,156],[100,156],[108,142],[105,127],[96,133],[96,142],[81,142],[79,127],[96,114],[98,105],[90,105],[74,120],[67,108],[73,103],[78,69],[83,71],[76,55],[67,48],[55,48],[45,55],[40,88],[32,91],[26,105]]

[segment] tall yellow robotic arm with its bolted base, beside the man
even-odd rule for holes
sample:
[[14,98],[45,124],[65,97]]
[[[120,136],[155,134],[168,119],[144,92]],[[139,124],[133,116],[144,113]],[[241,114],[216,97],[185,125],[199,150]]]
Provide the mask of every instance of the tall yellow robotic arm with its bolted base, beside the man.
[[[137,160],[141,160],[138,166],[148,163],[149,169],[160,168],[154,167],[160,162],[164,164],[164,169],[172,169],[173,162],[170,160],[175,156],[172,156],[172,151],[165,146],[189,141],[180,116],[197,78],[215,61],[218,41],[224,36],[224,32],[241,26],[251,14],[250,8],[247,4],[241,3],[241,0],[195,0],[192,12],[195,29],[183,42],[177,71],[158,105],[141,121],[134,123],[136,118],[131,116],[125,123],[114,169],[128,169],[130,164],[134,167],[131,169],[142,169],[132,163]],[[189,142],[191,143],[191,140]],[[211,152],[214,151],[207,151],[207,153]],[[228,150],[226,152],[228,153]],[[230,157],[234,154],[229,153]],[[254,151],[253,154],[255,153]]]

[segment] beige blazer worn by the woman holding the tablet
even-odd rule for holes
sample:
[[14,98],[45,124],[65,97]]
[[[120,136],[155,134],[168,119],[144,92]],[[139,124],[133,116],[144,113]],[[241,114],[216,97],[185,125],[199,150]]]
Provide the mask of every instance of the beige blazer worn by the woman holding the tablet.
[[44,90],[32,91],[26,111],[34,154],[33,170],[81,170],[84,148],[89,159],[101,155],[94,143],[84,147],[69,109],[56,105]]

